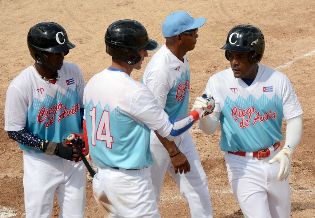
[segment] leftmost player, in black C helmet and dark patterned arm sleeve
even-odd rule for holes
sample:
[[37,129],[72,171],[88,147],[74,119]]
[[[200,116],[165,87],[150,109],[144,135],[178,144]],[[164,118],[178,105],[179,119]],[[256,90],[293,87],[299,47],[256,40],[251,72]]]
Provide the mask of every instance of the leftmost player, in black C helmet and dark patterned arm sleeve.
[[35,63],[11,82],[4,112],[4,129],[23,149],[26,217],[50,217],[55,193],[59,217],[84,217],[85,168],[64,140],[83,133],[85,82],[77,65],[64,62],[75,45],[53,22],[31,27],[27,45]]

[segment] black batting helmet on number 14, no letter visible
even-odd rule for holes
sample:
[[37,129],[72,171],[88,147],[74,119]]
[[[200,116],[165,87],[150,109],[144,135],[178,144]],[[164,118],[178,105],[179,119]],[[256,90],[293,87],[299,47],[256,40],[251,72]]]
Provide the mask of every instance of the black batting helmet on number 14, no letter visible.
[[127,64],[141,60],[138,50],[155,50],[158,43],[149,39],[146,28],[136,20],[118,20],[105,34],[106,53]]

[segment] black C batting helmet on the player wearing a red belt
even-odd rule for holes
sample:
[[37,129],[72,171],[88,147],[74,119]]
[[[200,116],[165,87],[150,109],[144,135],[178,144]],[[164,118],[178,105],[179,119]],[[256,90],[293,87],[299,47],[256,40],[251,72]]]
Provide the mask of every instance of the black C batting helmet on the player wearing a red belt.
[[226,44],[221,49],[225,49],[225,57],[229,59],[228,50],[236,52],[255,51],[249,56],[249,62],[258,64],[265,50],[265,39],[260,29],[251,25],[234,26],[226,38]]

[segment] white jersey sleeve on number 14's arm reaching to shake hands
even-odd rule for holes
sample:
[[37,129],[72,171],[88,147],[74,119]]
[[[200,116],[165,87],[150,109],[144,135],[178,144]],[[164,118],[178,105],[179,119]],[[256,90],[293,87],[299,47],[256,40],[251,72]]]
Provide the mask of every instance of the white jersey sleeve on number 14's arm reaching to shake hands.
[[[169,123],[169,116],[147,87],[143,87],[135,92],[131,99],[130,112],[132,116],[154,131],[160,129],[165,123]],[[173,125],[169,124],[169,127],[163,128],[165,132],[160,132],[161,136],[164,137],[170,133]]]

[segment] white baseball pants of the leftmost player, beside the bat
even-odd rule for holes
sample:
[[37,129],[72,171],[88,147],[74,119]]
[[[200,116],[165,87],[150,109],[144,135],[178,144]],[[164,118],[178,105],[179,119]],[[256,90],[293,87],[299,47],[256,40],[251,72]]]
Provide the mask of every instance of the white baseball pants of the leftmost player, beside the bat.
[[26,218],[49,218],[56,193],[60,218],[83,218],[85,167],[82,161],[62,159],[24,150],[24,200]]

